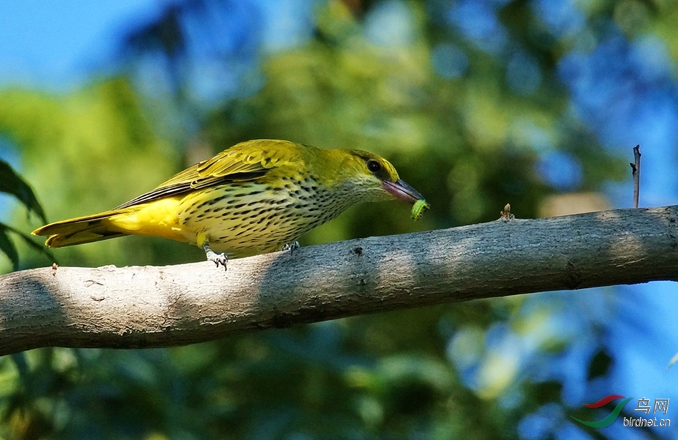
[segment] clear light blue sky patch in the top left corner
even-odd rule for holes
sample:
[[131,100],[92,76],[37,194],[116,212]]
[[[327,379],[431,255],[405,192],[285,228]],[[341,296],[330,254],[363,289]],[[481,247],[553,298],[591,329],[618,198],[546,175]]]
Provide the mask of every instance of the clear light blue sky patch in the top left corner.
[[119,36],[160,11],[157,0],[3,0],[0,85],[63,90],[104,67]]

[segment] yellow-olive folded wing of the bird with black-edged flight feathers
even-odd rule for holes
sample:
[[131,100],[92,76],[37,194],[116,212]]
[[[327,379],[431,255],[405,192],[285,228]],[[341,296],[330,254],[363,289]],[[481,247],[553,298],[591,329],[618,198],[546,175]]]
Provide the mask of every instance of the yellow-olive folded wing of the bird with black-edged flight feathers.
[[258,179],[271,168],[292,161],[296,148],[284,147],[297,145],[278,140],[243,142],[222,151],[215,157],[205,159],[199,164],[186,168],[181,173],[164,181],[154,190],[135,197],[116,209],[129,208],[140,203],[148,203],[164,197],[181,195],[232,181]]

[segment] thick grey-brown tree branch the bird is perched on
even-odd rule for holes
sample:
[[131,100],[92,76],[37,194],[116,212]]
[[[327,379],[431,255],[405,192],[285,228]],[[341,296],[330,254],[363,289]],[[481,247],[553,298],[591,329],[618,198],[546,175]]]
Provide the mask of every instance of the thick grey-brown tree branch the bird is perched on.
[[678,206],[500,219],[232,260],[0,277],[0,355],[168,347],[406,307],[678,279]]

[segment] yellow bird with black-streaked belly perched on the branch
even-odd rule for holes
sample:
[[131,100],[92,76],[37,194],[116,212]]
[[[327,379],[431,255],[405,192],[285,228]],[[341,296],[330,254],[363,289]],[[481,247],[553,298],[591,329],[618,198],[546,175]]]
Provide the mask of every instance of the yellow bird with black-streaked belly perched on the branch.
[[424,201],[375,153],[250,140],[117,208],[50,223],[32,234],[48,236],[50,248],[130,234],[159,236],[197,245],[226,269],[229,257],[292,252],[300,236],[355,203],[395,199]]

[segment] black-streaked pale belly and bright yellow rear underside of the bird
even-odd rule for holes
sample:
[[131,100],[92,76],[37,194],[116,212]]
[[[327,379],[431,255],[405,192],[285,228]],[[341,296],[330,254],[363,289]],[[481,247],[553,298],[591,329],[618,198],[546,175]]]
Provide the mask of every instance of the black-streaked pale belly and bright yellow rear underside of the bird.
[[336,203],[329,193],[311,186],[289,185],[282,190],[253,183],[215,186],[140,205],[107,221],[111,229],[127,234],[193,245],[206,241],[212,250],[228,256],[274,252],[350,204]]

